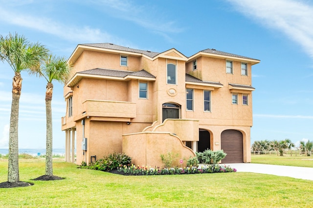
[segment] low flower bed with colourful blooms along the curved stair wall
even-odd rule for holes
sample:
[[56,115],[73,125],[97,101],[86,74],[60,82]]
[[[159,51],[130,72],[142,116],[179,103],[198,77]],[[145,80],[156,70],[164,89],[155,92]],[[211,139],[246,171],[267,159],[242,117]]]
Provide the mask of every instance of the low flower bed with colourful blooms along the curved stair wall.
[[123,175],[178,175],[178,174],[198,174],[198,173],[215,173],[215,172],[236,172],[237,170],[226,165],[207,165],[198,169],[196,166],[185,168],[163,168],[144,167],[124,165],[111,172]]

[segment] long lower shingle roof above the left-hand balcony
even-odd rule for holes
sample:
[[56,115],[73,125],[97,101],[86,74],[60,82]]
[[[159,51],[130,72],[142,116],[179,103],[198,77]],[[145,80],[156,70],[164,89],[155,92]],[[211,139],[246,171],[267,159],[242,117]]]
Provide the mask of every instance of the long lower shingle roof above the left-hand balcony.
[[112,69],[90,69],[86,71],[79,72],[80,74],[88,74],[88,75],[102,75],[102,76],[115,76],[115,77],[125,77],[125,76],[141,76],[141,77],[150,77],[156,78],[155,76],[151,75],[149,72],[145,70],[140,70],[138,72],[132,71],[121,71],[121,70],[112,70]]

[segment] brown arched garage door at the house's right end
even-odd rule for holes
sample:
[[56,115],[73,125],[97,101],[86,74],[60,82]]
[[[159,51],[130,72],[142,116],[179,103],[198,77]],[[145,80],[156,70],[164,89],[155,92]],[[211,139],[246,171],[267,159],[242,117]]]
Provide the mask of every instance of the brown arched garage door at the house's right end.
[[221,149],[227,153],[222,163],[243,163],[243,134],[237,130],[225,130],[221,134]]

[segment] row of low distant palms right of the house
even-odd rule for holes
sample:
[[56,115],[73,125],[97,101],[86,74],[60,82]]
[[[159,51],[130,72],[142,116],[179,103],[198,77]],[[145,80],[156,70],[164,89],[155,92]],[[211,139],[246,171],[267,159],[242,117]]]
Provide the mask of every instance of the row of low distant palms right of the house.
[[[251,150],[254,151],[254,153],[262,154],[263,152],[270,152],[270,151],[277,151],[277,155],[284,156],[284,151],[291,150],[294,148],[294,143],[291,142],[290,139],[284,139],[284,140],[259,140],[254,141]],[[313,152],[313,142],[310,140],[305,142],[300,142],[300,147],[296,147],[297,150],[300,152],[305,153],[307,156],[311,156]],[[292,152],[291,152],[292,155]]]

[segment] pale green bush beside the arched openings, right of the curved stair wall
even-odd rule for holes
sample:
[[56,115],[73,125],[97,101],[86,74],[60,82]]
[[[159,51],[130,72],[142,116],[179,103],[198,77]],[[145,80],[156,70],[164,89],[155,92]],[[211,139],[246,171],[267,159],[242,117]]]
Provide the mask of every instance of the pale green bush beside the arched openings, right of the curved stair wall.
[[203,152],[196,152],[199,163],[217,164],[225,158],[226,153],[223,150],[211,151],[205,150]]

